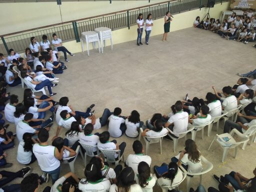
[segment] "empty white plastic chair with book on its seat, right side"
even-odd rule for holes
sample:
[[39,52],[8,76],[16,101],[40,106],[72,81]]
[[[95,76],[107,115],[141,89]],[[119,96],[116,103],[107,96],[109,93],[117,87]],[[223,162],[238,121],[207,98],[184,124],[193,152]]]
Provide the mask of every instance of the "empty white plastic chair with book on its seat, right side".
[[[240,138],[240,141],[236,142],[236,140],[233,138],[234,133]],[[244,142],[247,142],[249,140],[249,137],[247,135],[242,134],[237,129],[233,128],[229,133],[223,133],[223,134],[216,134],[216,136],[212,139],[208,150],[210,149],[212,143],[214,140],[223,148],[223,155],[222,155],[222,162],[224,162],[226,155],[228,153],[229,148],[234,148],[234,158],[237,155],[237,149],[238,145]],[[225,141],[226,140],[226,141]]]

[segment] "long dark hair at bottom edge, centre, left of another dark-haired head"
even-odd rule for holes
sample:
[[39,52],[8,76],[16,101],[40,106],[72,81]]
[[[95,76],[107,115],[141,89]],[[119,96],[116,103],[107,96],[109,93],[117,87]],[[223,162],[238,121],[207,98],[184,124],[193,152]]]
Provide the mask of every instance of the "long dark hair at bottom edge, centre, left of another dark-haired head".
[[127,166],[122,169],[118,180],[116,182],[117,192],[128,192],[130,191],[130,185],[135,184],[134,171],[131,167]]

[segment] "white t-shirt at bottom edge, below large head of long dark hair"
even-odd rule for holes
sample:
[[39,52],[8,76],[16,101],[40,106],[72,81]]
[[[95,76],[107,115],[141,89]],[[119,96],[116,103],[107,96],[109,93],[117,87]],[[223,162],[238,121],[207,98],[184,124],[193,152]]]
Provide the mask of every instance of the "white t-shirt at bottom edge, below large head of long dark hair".
[[85,184],[82,184],[81,181],[85,182],[85,180],[86,178],[82,178],[78,184],[78,189],[82,192],[108,192],[111,186],[111,183],[107,178],[100,179],[97,182],[87,181]]

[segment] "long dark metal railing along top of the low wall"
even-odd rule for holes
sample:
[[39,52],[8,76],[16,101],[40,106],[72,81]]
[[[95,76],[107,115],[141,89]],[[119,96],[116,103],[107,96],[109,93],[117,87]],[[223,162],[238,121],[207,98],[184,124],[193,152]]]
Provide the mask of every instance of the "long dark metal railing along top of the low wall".
[[[227,0],[216,0],[216,3],[222,3]],[[9,48],[13,48],[17,52],[24,52],[25,48],[30,43],[30,37],[34,36],[37,41],[41,41],[41,36],[46,34],[51,42],[52,33],[57,33],[57,36],[62,41],[76,40],[80,41],[80,34],[83,31],[94,30],[96,27],[105,26],[112,30],[128,27],[136,23],[137,15],[143,14],[145,18],[148,13],[152,14],[153,19],[163,17],[167,10],[171,14],[177,14],[184,11],[189,11],[196,8],[201,8],[207,4],[207,0],[172,0],[161,3],[135,7],[127,10],[107,13],[100,16],[81,18],[63,23],[27,29],[23,31],[13,32],[0,35],[0,52],[7,54]]]

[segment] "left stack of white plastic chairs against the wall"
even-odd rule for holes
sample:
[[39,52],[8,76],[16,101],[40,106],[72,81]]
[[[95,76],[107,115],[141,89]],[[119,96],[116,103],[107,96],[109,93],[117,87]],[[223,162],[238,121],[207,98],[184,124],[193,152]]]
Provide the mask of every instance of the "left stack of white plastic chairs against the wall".
[[92,42],[93,49],[95,48],[96,42],[98,43],[98,52],[100,52],[100,44],[99,44],[99,38],[98,33],[95,31],[86,31],[81,33],[81,45],[82,45],[82,52],[84,51],[83,43],[86,42],[87,45],[87,54],[89,56],[89,42]]

